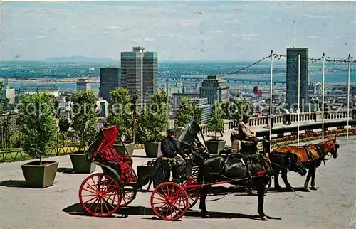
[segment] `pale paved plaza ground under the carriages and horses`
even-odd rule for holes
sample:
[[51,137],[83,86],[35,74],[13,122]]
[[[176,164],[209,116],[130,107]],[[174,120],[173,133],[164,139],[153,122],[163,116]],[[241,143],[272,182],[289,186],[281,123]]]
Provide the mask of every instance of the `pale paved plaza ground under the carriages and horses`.
[[[224,139],[229,139],[229,134],[226,132]],[[46,159],[59,165],[56,183],[45,189],[22,187],[21,164],[27,161],[0,164],[0,228],[355,228],[355,222],[350,223],[356,215],[356,137],[348,141],[342,137],[339,142],[339,157],[317,170],[318,190],[302,191],[305,176],[290,172],[290,184],[297,191],[276,192],[271,188],[266,193],[267,222],[256,218],[257,197],[231,186],[222,188],[225,197],[208,197],[211,218],[207,219],[199,218],[198,203],[178,222],[158,220],[150,208],[150,192],[138,193],[129,207],[110,218],[94,218],[78,203],[80,183],[89,175],[72,174],[68,155]],[[134,155],[135,169],[149,160],[144,150],[135,150]],[[100,171],[97,167],[95,172]],[[284,187],[281,178],[280,184]],[[231,189],[236,193],[228,196]],[[214,201],[216,198],[221,199]]]

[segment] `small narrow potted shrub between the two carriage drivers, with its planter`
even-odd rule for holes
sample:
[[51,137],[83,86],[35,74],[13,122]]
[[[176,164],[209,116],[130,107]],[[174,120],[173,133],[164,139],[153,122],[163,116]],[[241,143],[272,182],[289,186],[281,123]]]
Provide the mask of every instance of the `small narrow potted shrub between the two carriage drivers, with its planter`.
[[208,122],[209,129],[214,132],[212,139],[205,142],[209,154],[219,154],[224,149],[226,141],[219,139],[218,133],[224,132],[224,119],[219,102],[214,102],[214,110],[211,112],[211,118]]

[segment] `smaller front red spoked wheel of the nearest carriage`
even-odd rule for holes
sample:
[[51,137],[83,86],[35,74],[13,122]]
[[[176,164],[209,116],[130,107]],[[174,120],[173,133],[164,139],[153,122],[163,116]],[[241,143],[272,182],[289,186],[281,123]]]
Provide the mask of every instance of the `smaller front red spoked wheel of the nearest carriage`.
[[178,220],[188,210],[188,196],[182,186],[177,183],[159,184],[152,192],[151,207],[162,220]]

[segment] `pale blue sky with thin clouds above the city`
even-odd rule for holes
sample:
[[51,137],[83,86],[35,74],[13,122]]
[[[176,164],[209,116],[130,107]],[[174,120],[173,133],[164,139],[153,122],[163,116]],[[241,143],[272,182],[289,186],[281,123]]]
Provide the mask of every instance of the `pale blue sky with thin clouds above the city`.
[[1,15],[2,60],[120,60],[132,46],[159,61],[356,55],[355,1],[4,1]]

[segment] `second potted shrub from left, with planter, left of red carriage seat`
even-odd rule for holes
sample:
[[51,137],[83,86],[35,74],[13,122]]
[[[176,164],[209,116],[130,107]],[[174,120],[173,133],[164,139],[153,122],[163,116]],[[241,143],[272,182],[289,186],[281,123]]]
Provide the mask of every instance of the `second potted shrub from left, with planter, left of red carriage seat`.
[[79,150],[70,154],[75,173],[86,174],[95,171],[94,162],[87,160],[86,147],[96,134],[98,117],[96,117],[96,99],[93,91],[77,91],[71,98],[73,102],[72,127],[79,140]]

